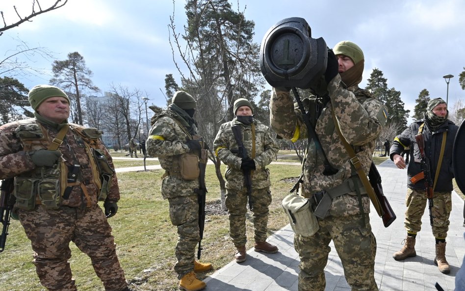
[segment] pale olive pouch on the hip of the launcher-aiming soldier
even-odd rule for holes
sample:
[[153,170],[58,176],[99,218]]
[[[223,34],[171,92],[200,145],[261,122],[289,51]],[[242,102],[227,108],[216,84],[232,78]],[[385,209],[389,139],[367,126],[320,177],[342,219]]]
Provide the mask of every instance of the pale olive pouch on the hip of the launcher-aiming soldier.
[[311,237],[320,229],[311,211],[310,199],[292,193],[284,197],[282,206],[295,234]]

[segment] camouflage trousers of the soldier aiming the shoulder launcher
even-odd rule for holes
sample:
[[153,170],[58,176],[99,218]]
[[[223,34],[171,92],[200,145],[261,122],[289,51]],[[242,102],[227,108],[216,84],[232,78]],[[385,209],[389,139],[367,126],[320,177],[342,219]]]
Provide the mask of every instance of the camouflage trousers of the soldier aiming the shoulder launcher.
[[294,247],[300,257],[299,291],[324,291],[324,268],[333,240],[352,291],[378,291],[374,277],[376,239],[369,215],[365,227],[361,214],[328,216],[319,219],[320,229],[311,237],[295,235]]

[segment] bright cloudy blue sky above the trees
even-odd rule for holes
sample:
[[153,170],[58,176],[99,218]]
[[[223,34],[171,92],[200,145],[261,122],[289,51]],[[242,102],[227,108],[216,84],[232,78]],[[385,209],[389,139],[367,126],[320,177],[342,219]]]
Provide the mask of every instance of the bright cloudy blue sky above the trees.
[[[40,3],[45,7],[54,1]],[[355,42],[365,55],[361,87],[373,68],[378,68],[388,79],[388,87],[401,92],[412,112],[422,89],[426,88],[432,98],[446,99],[447,85],[442,76],[447,74],[454,75],[449,83],[449,107],[457,100],[465,101],[465,91],[459,85],[459,74],[465,67],[463,0],[238,2],[232,1],[234,9],[245,9],[246,19],[255,22],[257,43],[271,26],[288,17],[305,18],[312,37],[323,37],[330,48],[341,40]],[[31,0],[1,0],[0,10],[7,24],[16,21],[12,3],[22,9],[22,15],[31,9]],[[30,47],[48,48],[59,60],[78,52],[102,91],[109,91],[110,83],[138,88],[147,91],[149,104],[164,106],[160,89],[164,92],[165,75],[173,74],[181,84],[168,42],[168,24],[174,13],[178,31],[182,32],[184,4],[180,0],[175,4],[172,0],[69,0],[62,8],[4,32],[0,36],[0,60],[15,49],[17,37]],[[51,79],[52,60],[34,61],[34,66],[50,75],[20,78],[29,89]]]

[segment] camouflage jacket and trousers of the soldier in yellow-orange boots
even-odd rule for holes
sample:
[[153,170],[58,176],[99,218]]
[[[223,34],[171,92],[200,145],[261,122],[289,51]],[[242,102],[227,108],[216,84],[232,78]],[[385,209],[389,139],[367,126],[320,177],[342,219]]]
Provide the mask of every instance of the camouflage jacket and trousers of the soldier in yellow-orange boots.
[[180,170],[181,155],[190,152],[185,142],[192,139],[197,128],[194,124],[189,126],[178,112],[171,110],[173,106],[170,105],[154,119],[146,147],[147,154],[158,157],[165,170],[161,195],[168,199],[171,223],[178,228],[175,251],[178,262],[174,269],[181,279],[194,268],[195,247],[200,239],[199,204],[194,192],[195,188],[199,188],[199,181],[183,180]]

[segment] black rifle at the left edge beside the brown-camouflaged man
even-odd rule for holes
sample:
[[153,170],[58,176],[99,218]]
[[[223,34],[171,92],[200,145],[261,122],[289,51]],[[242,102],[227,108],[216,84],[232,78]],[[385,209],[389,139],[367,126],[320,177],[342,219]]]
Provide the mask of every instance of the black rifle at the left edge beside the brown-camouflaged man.
[[10,225],[11,211],[13,210],[12,199],[13,178],[3,180],[0,185],[0,223],[2,224],[0,235],[0,252],[5,249],[6,236],[8,235],[8,226]]

